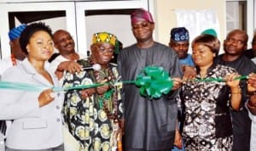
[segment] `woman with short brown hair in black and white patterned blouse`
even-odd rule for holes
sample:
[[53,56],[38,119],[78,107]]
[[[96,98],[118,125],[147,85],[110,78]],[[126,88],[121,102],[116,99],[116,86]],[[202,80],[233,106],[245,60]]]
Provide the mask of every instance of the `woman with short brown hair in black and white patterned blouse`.
[[214,64],[219,46],[218,38],[212,35],[197,36],[192,42],[197,75],[194,80],[183,83],[178,100],[185,107],[186,151],[232,149],[230,109],[239,109],[240,80],[234,80],[239,76],[236,70]]

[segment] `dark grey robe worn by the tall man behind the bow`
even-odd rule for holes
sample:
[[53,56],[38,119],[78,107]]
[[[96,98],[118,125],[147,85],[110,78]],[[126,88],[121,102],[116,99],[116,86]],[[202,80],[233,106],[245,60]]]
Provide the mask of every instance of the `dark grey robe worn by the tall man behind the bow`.
[[[177,54],[159,42],[143,49],[134,44],[119,53],[118,66],[123,81],[136,80],[148,65],[163,67],[171,77],[182,76]],[[150,100],[140,95],[136,85],[125,84],[125,146],[147,150],[172,148],[177,120],[176,95],[177,91],[171,91],[168,97]]]

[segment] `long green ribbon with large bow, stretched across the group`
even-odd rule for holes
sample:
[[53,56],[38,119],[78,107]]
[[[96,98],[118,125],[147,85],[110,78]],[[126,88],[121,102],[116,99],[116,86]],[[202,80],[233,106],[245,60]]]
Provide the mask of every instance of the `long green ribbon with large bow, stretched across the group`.
[[[237,77],[236,80],[247,79],[247,76]],[[195,82],[212,82],[212,81],[225,81],[223,78],[204,78],[204,79],[193,79],[190,81]],[[147,66],[140,74],[137,75],[136,81],[119,81],[123,84],[136,84],[139,87],[140,94],[148,98],[160,98],[162,94],[167,94],[172,90],[173,81],[169,76],[168,72],[159,66]],[[75,87],[44,87],[37,86],[27,83],[0,81],[0,89],[14,89],[24,91],[43,91],[44,89],[52,88],[55,92],[68,91],[74,89],[85,89],[92,87],[100,87],[102,85],[117,85],[119,82],[105,82],[95,83],[91,85],[81,85]],[[111,93],[111,92],[109,92]],[[110,95],[110,94],[109,94]],[[106,94],[108,98],[108,93]]]

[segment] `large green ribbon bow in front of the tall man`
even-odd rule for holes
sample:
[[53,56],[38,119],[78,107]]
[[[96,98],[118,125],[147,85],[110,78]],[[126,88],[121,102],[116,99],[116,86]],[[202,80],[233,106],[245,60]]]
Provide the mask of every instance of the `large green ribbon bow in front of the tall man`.
[[149,98],[160,98],[172,90],[173,81],[169,74],[162,67],[147,66],[142,73],[137,75],[135,81],[140,87],[140,94]]

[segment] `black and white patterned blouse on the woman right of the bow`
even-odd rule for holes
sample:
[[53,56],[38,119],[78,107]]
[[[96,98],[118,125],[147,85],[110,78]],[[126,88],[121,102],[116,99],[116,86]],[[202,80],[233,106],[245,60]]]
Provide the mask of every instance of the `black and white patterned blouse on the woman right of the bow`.
[[[213,64],[204,78],[224,78],[236,70]],[[178,103],[184,107],[183,140],[187,151],[231,150],[230,87],[224,81],[186,81]]]

